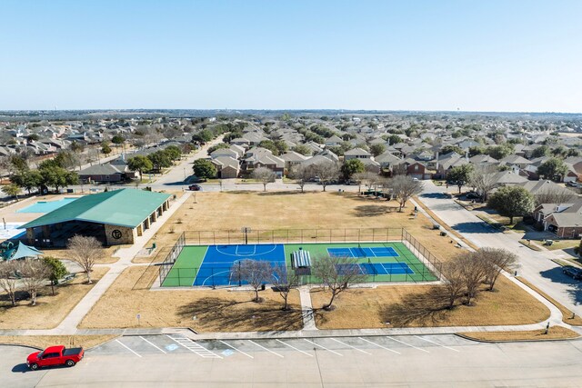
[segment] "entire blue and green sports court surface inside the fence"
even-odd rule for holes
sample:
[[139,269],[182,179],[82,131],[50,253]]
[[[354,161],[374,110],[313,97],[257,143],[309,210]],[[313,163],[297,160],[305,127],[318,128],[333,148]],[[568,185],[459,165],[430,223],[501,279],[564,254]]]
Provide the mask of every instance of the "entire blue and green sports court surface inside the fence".
[[[228,286],[245,282],[233,276],[233,267],[243,260],[265,261],[296,271],[291,255],[303,250],[312,262],[324,255],[357,259],[358,271],[366,274],[366,282],[433,282],[438,278],[405,244],[339,243],[339,244],[233,244],[186,245],[162,279],[162,286]],[[361,263],[360,263],[361,262]],[[309,269],[307,269],[309,270]],[[338,271],[341,269],[338,268]],[[317,284],[320,280],[302,269],[302,284]]]

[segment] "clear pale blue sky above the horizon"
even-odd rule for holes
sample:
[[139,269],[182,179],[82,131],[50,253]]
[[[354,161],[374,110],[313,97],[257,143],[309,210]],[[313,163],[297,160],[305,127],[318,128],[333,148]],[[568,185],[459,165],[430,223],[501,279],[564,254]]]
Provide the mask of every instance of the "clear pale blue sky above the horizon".
[[0,110],[582,112],[582,1],[2,0]]

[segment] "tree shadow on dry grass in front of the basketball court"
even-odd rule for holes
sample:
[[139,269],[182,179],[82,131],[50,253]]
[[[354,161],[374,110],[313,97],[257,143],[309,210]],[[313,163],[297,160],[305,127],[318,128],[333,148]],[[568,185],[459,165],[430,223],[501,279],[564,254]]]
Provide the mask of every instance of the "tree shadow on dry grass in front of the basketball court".
[[282,310],[283,303],[266,300],[255,303],[210,297],[186,303],[178,308],[185,319],[196,316],[196,322],[216,331],[289,331],[303,327],[300,310]]

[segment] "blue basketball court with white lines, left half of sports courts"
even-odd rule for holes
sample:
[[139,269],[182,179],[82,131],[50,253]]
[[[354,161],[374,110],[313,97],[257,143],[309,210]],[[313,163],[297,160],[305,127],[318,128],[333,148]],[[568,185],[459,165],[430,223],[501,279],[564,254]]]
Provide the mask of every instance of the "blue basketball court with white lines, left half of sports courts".
[[231,270],[249,259],[285,266],[285,249],[281,244],[209,245],[192,285],[245,284],[233,279]]

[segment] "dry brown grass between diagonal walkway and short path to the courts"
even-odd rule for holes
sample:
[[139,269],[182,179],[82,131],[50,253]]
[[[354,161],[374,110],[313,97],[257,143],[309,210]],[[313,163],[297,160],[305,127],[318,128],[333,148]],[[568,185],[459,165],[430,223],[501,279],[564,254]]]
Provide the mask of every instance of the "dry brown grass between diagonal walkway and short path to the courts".
[[[303,327],[299,293],[289,295],[293,311],[281,311],[282,299],[270,289],[254,293],[208,289],[156,290],[148,286],[156,267],[125,269],[79,327],[190,327],[196,332],[299,330]],[[141,314],[138,326],[136,314]],[[196,319],[194,318],[196,316]]]

